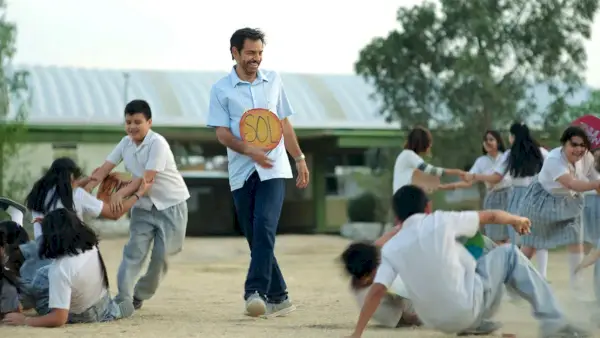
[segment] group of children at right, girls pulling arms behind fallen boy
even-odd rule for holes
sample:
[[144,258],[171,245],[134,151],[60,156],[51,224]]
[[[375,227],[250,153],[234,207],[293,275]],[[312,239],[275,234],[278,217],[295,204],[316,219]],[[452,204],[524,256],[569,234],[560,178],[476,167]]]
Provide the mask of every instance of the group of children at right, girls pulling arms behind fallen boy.
[[[561,146],[548,152],[527,126],[515,123],[510,143],[505,150],[499,133],[486,132],[484,155],[463,172],[426,163],[422,155],[431,148],[431,134],[423,128],[409,133],[394,168],[397,226],[375,243],[353,243],[342,254],[352,293],[361,295],[352,337],[360,337],[371,318],[389,327],[395,325],[388,317],[400,323],[405,315],[414,325],[447,333],[490,334],[501,327],[492,317],[504,289],[532,305],[542,337],[589,336],[565,319],[545,279],[548,249],[568,248],[575,290],[578,271],[600,256],[594,251],[582,262],[582,193],[600,188],[588,136],[580,127],[568,127]],[[444,190],[485,182],[484,211],[431,212],[425,190],[415,182],[418,171],[462,178],[438,186]],[[586,228],[598,222],[595,205],[590,210]],[[485,238],[483,254],[476,255],[464,243],[480,232],[495,243]],[[597,232],[586,235],[594,245]],[[541,271],[529,262],[534,254],[541,256]]]

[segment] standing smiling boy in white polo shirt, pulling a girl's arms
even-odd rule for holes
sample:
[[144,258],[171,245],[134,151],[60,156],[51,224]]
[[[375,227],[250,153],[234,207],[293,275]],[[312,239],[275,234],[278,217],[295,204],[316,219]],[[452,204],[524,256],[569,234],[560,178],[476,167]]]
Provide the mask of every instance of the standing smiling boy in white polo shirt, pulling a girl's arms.
[[[131,300],[136,309],[156,292],[167,272],[168,256],[183,249],[188,219],[186,201],[190,197],[167,140],[152,131],[151,126],[150,105],[144,100],[129,102],[125,106],[127,136],[93,175],[98,184],[121,161],[124,162],[125,169],[134,179],[113,195],[111,203],[117,208],[123,198],[135,194],[142,180],[152,183],[145,196],[136,196],[139,201],[131,209],[129,242],[123,249],[123,261],[117,275],[119,294],[116,299],[119,302]],[[148,254],[148,270],[136,283]]]

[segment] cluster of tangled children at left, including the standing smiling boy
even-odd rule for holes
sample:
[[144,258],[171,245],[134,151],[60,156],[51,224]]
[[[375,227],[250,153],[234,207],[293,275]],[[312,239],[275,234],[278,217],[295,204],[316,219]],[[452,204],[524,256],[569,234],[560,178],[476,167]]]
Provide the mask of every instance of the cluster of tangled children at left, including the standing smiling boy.
[[[156,292],[168,257],[182,250],[189,192],[171,149],[151,130],[147,102],[131,101],[124,117],[127,136],[90,177],[72,159],[59,158],[35,182],[25,206],[0,199],[12,218],[0,223],[3,323],[57,327],[129,317]],[[134,179],[110,203],[91,195],[121,162]],[[26,210],[34,224],[31,240],[23,229]],[[118,219],[130,210],[130,238],[118,271],[118,294],[112,298],[98,236],[83,219]],[[138,280],[148,255],[147,272]],[[25,316],[29,309],[37,316]]]

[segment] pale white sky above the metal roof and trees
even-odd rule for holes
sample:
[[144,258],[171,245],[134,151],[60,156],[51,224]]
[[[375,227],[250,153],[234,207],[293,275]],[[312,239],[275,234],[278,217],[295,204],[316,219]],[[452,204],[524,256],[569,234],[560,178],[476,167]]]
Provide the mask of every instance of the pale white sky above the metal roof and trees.
[[[223,70],[241,27],[267,34],[262,67],[351,74],[360,49],[397,28],[420,0],[5,0],[18,63],[117,69]],[[365,5],[368,3],[368,5]],[[600,87],[600,20],[587,43],[588,83]]]

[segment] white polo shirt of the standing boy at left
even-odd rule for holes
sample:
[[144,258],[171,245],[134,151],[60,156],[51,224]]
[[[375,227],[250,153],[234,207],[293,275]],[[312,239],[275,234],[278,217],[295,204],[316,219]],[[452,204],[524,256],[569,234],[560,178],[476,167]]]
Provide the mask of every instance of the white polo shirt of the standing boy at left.
[[135,207],[151,210],[152,205],[164,210],[190,198],[190,193],[177,170],[175,156],[167,140],[160,134],[148,131],[138,146],[129,136],[123,137],[106,161],[118,165],[123,161],[125,170],[136,178],[144,177],[146,170],[157,171],[152,188]]

